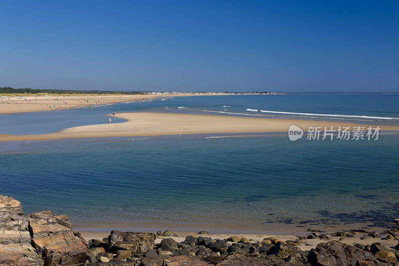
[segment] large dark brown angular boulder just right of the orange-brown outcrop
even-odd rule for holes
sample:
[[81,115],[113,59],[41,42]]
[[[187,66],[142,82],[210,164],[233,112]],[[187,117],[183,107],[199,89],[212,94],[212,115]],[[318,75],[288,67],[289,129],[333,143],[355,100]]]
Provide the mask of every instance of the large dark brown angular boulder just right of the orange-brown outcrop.
[[109,235],[108,251],[117,253],[118,250],[131,250],[132,255],[141,256],[152,249],[155,243],[153,233],[134,233],[111,231]]

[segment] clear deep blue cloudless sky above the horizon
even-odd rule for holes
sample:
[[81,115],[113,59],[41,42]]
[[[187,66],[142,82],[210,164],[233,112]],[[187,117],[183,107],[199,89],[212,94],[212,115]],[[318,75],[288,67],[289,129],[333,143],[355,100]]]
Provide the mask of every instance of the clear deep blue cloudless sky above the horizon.
[[399,1],[0,1],[0,86],[399,92]]

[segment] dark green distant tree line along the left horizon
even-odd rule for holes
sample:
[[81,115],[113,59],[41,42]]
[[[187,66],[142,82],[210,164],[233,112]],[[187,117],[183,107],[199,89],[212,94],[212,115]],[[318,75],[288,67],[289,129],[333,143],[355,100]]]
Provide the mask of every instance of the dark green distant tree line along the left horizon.
[[60,90],[60,89],[14,89],[0,87],[0,93],[53,93],[53,94],[144,94],[143,91],[118,91],[118,90]]

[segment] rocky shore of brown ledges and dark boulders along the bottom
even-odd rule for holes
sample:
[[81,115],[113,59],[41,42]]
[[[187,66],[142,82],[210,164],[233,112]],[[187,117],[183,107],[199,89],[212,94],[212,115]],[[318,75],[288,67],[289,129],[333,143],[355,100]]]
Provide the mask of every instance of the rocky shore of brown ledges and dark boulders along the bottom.
[[[51,211],[24,215],[17,200],[0,195],[0,266],[399,265],[398,228],[311,232],[285,241],[275,237],[212,239],[204,231],[184,241],[177,238],[168,230],[111,231],[102,240],[86,241],[72,230],[68,216]],[[306,250],[310,243],[317,245]]]

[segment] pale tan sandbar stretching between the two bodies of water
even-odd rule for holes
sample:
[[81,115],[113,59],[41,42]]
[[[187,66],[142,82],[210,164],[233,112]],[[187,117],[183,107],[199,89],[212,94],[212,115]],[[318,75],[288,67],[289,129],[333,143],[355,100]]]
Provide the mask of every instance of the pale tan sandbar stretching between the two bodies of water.
[[[348,122],[329,122],[311,120],[289,120],[250,118],[219,115],[193,115],[184,113],[152,113],[134,112],[107,115],[125,119],[124,123],[98,124],[71,127],[51,134],[40,135],[5,135],[0,134],[0,141],[18,140],[55,140],[101,137],[162,136],[179,134],[217,134],[217,133],[267,133],[288,132],[291,125],[307,131],[308,127],[324,127],[338,129],[339,126],[366,128]],[[104,117],[107,121],[107,117]],[[371,125],[373,128],[376,126]],[[399,131],[399,126],[380,126],[380,130]]]

